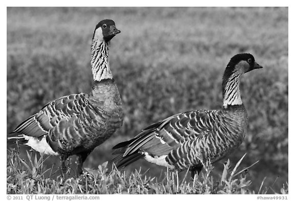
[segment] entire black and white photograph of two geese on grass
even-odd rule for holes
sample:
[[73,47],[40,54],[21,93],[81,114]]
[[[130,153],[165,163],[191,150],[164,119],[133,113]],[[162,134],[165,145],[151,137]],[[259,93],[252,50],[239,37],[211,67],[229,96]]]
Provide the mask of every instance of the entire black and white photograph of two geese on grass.
[[7,7],[7,199],[288,199],[288,12]]

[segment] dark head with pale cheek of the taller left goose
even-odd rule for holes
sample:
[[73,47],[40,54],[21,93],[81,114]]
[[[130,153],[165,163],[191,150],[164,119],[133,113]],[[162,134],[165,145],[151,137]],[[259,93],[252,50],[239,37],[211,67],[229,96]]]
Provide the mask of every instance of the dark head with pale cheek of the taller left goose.
[[92,39],[108,42],[118,33],[121,31],[116,28],[112,19],[103,19],[96,25]]

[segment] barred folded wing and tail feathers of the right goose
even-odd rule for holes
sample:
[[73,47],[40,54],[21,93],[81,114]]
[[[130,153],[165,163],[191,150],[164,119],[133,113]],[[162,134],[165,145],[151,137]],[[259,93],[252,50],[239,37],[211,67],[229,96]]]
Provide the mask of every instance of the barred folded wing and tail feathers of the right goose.
[[[116,145],[113,149],[118,150],[114,154],[123,152],[121,159],[138,152],[146,152],[153,157],[168,155],[171,164],[175,164],[180,158],[185,159],[189,146],[213,135],[218,113],[219,110],[196,110],[168,117],[143,129],[134,139]],[[137,154],[135,156],[138,157]],[[120,157],[115,160],[118,159]]]

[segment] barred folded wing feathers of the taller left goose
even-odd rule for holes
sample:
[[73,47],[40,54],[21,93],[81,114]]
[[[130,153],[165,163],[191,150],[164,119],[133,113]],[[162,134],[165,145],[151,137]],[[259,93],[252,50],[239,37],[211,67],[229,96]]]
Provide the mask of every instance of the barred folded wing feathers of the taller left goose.
[[98,119],[97,109],[93,109],[86,96],[72,94],[46,104],[38,113],[19,124],[8,139],[47,137],[54,151],[66,148],[70,151],[80,145],[85,138],[85,131],[94,132],[91,126],[83,127],[83,124],[92,125]]

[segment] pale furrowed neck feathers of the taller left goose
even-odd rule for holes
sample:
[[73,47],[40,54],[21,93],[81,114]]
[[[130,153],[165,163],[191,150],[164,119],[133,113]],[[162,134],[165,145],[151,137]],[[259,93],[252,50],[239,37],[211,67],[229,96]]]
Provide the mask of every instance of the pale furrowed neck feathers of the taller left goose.
[[91,44],[91,68],[94,81],[113,79],[109,63],[110,41],[92,40]]

